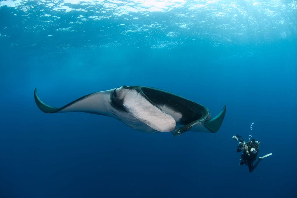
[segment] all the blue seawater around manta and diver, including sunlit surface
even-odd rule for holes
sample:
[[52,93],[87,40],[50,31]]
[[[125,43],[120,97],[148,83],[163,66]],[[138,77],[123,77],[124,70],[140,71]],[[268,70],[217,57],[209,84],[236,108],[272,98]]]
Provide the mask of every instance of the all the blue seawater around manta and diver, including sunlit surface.
[[[0,1],[0,197],[296,197],[296,23],[292,0]],[[33,97],[122,85],[225,119],[174,138]],[[274,155],[249,173],[236,134]]]

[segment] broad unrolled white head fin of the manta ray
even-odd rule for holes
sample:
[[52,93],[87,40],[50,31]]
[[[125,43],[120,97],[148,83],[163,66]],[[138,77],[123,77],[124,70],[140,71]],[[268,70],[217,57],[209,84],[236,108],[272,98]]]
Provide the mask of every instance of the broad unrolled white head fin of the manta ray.
[[170,132],[176,127],[174,118],[139,90],[129,90],[124,97],[123,106],[132,116],[159,132]]

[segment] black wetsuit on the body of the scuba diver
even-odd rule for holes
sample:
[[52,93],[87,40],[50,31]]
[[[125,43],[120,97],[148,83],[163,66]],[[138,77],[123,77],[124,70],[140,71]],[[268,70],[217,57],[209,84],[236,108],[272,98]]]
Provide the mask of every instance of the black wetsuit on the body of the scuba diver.
[[[249,166],[249,172],[251,173],[255,170],[261,159],[259,158],[259,160],[254,165],[254,161],[257,159],[257,155],[259,152],[259,146],[255,144],[255,139],[247,142],[247,146],[249,149],[249,154],[247,154],[245,150],[243,151],[243,153],[241,154],[240,165],[247,164]],[[251,152],[251,148],[255,148],[257,150],[256,154]],[[241,152],[241,150],[237,149],[237,152]]]

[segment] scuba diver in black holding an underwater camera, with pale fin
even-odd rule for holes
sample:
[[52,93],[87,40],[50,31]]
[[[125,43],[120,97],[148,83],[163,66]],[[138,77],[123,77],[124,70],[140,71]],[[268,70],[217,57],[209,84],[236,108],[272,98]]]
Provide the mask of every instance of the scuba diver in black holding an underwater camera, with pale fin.
[[237,151],[236,152],[241,152],[243,151],[243,153],[241,154],[241,161],[240,161],[240,165],[246,164],[249,166],[249,172],[253,172],[255,170],[255,168],[257,167],[257,165],[259,164],[259,162],[263,159],[266,158],[270,155],[272,155],[272,153],[269,153],[267,155],[264,155],[263,157],[259,157],[258,161],[254,164],[254,161],[256,161],[257,159],[257,155],[259,152],[259,145],[260,142],[259,141],[255,141],[255,139],[251,139],[248,142],[244,142],[244,139],[242,136],[240,135],[234,135],[232,137],[232,139],[238,141],[237,144]]

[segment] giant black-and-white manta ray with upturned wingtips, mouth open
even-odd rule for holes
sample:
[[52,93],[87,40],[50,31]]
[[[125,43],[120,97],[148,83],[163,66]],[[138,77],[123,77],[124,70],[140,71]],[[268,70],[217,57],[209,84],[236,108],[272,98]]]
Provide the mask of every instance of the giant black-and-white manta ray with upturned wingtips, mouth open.
[[208,108],[179,95],[144,86],[122,86],[85,95],[61,107],[51,107],[37,95],[37,106],[45,113],[85,112],[110,116],[133,129],[155,133],[186,131],[212,132],[219,130],[226,106],[211,118]]

